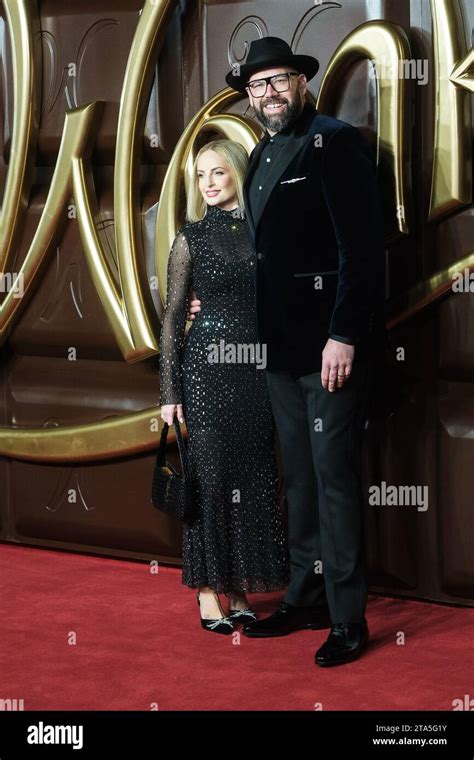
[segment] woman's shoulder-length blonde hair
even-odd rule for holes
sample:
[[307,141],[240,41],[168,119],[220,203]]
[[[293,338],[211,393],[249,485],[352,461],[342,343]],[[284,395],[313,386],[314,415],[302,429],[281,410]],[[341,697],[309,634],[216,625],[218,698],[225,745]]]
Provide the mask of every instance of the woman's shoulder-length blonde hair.
[[189,185],[186,201],[186,219],[188,222],[197,222],[203,219],[207,213],[206,201],[199,190],[197,162],[199,156],[202,156],[208,150],[215,150],[216,153],[219,153],[226,160],[234,177],[239,206],[244,208],[243,184],[249,162],[247,151],[240,143],[234,140],[212,140],[202,146],[194,159],[192,181]]

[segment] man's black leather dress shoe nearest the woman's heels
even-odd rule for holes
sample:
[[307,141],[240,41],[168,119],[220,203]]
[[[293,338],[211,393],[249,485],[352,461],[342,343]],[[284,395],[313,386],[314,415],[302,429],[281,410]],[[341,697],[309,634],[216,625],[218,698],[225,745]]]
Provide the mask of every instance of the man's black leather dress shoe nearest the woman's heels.
[[293,631],[311,628],[313,631],[329,628],[331,620],[326,607],[294,607],[281,602],[270,617],[244,625],[243,632],[251,638],[287,636]]

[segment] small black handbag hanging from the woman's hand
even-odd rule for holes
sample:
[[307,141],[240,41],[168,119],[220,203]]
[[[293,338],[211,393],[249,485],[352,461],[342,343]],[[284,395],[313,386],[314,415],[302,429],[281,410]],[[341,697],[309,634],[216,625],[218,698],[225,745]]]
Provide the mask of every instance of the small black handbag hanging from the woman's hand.
[[166,461],[166,439],[169,425],[163,425],[160,445],[156,455],[153,482],[151,487],[151,502],[161,512],[177,517],[183,522],[192,522],[197,516],[197,499],[195,479],[189,460],[188,450],[181,435],[179,421],[175,417],[174,429],[178,442],[182,473]]

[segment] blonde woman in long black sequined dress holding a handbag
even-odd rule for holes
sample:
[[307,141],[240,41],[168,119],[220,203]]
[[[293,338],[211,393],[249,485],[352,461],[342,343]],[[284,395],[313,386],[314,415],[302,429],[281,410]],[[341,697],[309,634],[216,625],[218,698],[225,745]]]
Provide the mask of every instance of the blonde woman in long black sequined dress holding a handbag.
[[[255,619],[246,592],[280,590],[289,581],[274,423],[264,362],[255,360],[262,347],[243,210],[247,163],[231,140],[198,152],[188,223],[170,252],[160,336],[161,416],[169,425],[175,414],[186,422],[199,503],[197,520],[184,525],[182,582],[198,589],[202,627],[224,634]],[[185,336],[192,290],[205,306]],[[228,598],[228,615],[219,593]]]

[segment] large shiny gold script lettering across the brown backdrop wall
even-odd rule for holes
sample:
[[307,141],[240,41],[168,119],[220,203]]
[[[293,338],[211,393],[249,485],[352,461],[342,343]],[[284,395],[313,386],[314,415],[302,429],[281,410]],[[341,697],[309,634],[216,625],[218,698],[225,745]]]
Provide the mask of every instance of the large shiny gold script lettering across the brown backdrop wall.
[[[13,136],[0,227],[0,261],[3,273],[10,271],[14,243],[23,222],[25,200],[31,186],[35,160],[38,121],[38,71],[33,54],[33,33],[39,27],[38,9],[28,0],[4,0],[12,39],[14,71]],[[436,133],[432,169],[430,218],[439,218],[472,201],[472,160],[469,138],[468,91],[474,91],[472,64],[474,51],[467,52],[459,3],[431,0],[436,61]],[[69,199],[77,206],[77,219],[84,254],[91,277],[100,296],[117,343],[127,362],[136,362],[157,352],[158,322],[150,298],[150,283],[143,268],[141,245],[138,164],[146,101],[153,78],[153,61],[164,37],[164,29],[176,7],[176,0],[148,0],[137,23],[123,82],[117,128],[114,168],[114,211],[116,257],[119,277],[114,277],[97,234],[97,199],[91,166],[91,153],[100,120],[101,103],[90,103],[66,113],[61,146],[49,194],[36,235],[17,276],[23,281],[24,297],[15,298],[12,288],[0,307],[0,336],[4,341],[18,311],[31,297],[36,278],[48,250],[64,219]],[[375,68],[389,62],[396,69],[399,61],[409,59],[408,38],[395,24],[369,22],[355,29],[335,51],[325,72],[318,108],[332,112],[348,69],[359,59],[374,62]],[[384,67],[386,68],[386,66]],[[395,178],[396,210],[411,206],[410,124],[411,93],[409,79],[383,74],[377,77],[378,146],[387,151]],[[239,96],[240,97],[240,96]],[[156,221],[156,270],[162,300],[166,291],[167,256],[176,234],[178,188],[189,176],[196,136],[203,128],[214,128],[248,150],[258,141],[261,130],[249,119],[225,110],[236,100],[230,88],[217,93],[186,127],[166,174]],[[409,233],[406,213],[397,212],[398,232]],[[393,233],[391,234],[393,237]],[[389,325],[397,324],[452,284],[452,273],[472,269],[474,253],[443,272],[420,283],[399,298],[399,313]],[[150,415],[139,415],[93,423],[81,428],[54,431],[2,430],[3,455],[32,458],[36,461],[87,461],[146,450],[156,444],[150,428]],[[41,435],[41,452],[37,437]],[[116,442],[114,445],[113,442]],[[120,444],[118,443],[120,441]]]

